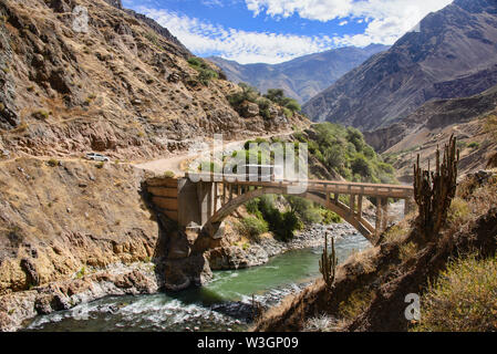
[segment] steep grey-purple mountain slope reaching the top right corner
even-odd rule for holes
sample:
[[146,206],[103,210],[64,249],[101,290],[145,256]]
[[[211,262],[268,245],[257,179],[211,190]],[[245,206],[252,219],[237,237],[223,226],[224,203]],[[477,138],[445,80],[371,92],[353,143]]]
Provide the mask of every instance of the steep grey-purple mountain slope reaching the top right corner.
[[463,97],[497,84],[497,1],[455,0],[310,102],[315,121],[374,129],[432,98]]

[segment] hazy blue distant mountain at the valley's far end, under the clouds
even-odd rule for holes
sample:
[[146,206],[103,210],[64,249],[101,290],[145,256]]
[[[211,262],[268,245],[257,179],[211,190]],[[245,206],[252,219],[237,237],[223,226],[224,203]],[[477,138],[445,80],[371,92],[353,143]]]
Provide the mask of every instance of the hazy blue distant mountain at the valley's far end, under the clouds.
[[304,103],[371,55],[387,49],[382,44],[371,44],[363,49],[346,46],[275,65],[242,65],[217,56],[209,60],[220,66],[230,81],[247,82],[262,93],[268,88],[283,88],[288,96]]

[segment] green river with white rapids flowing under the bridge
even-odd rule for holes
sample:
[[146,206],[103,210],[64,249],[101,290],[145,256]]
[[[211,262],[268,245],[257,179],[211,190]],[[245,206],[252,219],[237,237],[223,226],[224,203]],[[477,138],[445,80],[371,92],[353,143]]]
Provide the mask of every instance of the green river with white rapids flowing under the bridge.
[[[339,262],[369,247],[361,235],[335,241]],[[206,287],[179,293],[104,298],[38,316],[25,323],[24,331],[244,331],[249,325],[252,294],[270,306],[299,292],[320,277],[321,252],[321,248],[294,250],[260,267],[217,271]]]

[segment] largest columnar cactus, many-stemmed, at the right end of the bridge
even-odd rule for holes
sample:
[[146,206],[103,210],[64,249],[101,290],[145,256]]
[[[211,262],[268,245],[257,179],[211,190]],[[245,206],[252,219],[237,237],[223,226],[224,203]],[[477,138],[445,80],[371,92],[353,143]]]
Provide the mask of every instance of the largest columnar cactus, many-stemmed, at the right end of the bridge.
[[424,241],[438,235],[447,219],[448,208],[456,194],[457,163],[459,150],[456,150],[457,139],[451,136],[444,148],[444,159],[441,165],[441,152],[436,150],[436,170],[424,170],[420,166],[420,155],[414,165],[414,199],[418,206],[417,219]]

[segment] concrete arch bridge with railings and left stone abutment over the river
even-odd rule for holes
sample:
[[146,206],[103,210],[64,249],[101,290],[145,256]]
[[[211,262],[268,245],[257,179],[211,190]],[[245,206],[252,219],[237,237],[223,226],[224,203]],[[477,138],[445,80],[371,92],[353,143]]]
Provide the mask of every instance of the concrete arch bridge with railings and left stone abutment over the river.
[[[224,236],[222,220],[247,201],[262,195],[296,195],[334,211],[367,240],[375,243],[386,229],[387,198],[405,199],[412,207],[413,187],[334,180],[237,180],[237,176],[189,175],[183,178],[152,178],[146,189],[155,207],[179,227],[198,229],[214,239]],[[304,188],[302,188],[304,186]],[[296,192],[297,190],[297,192]],[[348,196],[348,204],[340,196]],[[363,215],[364,198],[376,199],[375,225]]]

